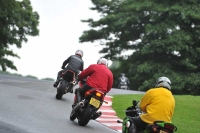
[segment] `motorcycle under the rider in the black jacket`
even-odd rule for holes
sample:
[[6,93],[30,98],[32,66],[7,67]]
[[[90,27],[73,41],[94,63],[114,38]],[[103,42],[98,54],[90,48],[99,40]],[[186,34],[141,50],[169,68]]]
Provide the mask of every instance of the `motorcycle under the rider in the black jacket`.
[[73,87],[76,85],[76,83],[77,80],[73,71],[66,70],[63,72],[57,86],[56,99],[61,99],[62,96],[68,92],[73,93]]

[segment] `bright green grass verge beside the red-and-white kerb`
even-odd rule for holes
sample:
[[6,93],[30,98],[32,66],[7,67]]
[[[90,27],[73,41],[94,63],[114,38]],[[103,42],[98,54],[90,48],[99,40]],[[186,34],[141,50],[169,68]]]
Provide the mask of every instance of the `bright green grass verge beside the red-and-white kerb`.
[[[113,95],[112,108],[121,119],[132,100],[139,101],[142,94]],[[175,95],[176,107],[172,123],[178,128],[176,133],[200,133],[200,96]]]

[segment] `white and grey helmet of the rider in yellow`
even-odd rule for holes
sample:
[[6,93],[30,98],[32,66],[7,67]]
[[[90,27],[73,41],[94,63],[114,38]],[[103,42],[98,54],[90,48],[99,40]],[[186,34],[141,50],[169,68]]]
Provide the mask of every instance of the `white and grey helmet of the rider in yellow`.
[[164,87],[171,90],[171,81],[167,77],[160,77],[157,80],[156,87]]

